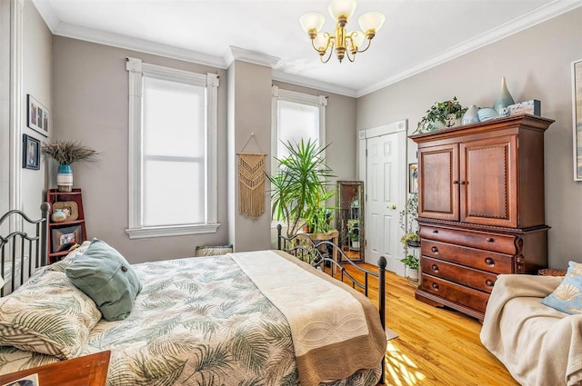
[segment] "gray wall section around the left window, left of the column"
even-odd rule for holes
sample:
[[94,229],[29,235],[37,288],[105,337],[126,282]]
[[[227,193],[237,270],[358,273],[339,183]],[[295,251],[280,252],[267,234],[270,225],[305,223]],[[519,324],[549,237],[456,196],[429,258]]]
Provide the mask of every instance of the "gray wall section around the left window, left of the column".
[[[101,152],[96,165],[74,164],[74,186],[83,189],[86,230],[119,250],[130,262],[192,256],[196,245],[228,240],[226,210],[226,153],[218,153],[217,233],[129,240],[127,228],[127,114],[128,75],[125,57],[149,64],[172,66],[197,73],[226,72],[156,55],[61,36],[53,45],[53,122],[60,139],[74,139]],[[218,148],[226,148],[226,87],[218,88]],[[220,177],[222,175],[222,177]],[[50,180],[55,184],[54,179]],[[171,202],[172,197],[168,197]]]

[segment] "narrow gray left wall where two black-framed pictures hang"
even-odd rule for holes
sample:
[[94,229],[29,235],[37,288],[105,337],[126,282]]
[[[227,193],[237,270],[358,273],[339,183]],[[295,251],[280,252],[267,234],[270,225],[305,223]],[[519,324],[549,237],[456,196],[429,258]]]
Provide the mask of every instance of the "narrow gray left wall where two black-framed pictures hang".
[[[51,98],[53,35],[32,2],[24,3],[23,25],[22,133],[31,135],[42,143],[46,140],[45,136],[27,127],[26,94],[33,95],[49,112],[53,112]],[[18,164],[21,163],[22,158],[19,158]],[[41,162],[40,170],[22,169],[22,209],[33,218],[40,217],[40,204],[45,201],[45,171],[44,162]]]

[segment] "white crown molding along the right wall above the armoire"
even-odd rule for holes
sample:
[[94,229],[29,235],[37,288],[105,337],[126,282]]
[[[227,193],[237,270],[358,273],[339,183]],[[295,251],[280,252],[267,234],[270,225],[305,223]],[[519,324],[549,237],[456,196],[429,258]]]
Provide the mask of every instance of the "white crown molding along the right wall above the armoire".
[[450,60],[453,60],[464,54],[468,54],[486,45],[495,43],[507,36],[517,34],[518,32],[526,30],[529,27],[538,25],[556,16],[565,14],[579,6],[582,6],[582,1],[580,0],[555,0],[554,2],[538,8],[535,11],[517,17],[516,19],[508,21],[504,25],[500,25],[497,28],[478,35],[475,38],[469,39],[460,45],[455,45],[442,54],[433,56],[423,63],[409,67],[406,70],[390,76],[383,81],[380,81],[376,84],[371,84],[367,87],[359,88],[357,89],[356,97],[373,93],[390,84],[395,84],[405,80],[410,76],[420,74],[426,70],[436,67],[439,64],[447,63]]

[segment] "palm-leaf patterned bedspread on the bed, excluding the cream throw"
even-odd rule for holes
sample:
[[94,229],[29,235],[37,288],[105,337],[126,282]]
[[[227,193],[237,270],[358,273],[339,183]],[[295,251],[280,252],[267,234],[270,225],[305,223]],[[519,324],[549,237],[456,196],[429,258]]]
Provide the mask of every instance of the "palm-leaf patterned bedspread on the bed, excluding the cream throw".
[[[228,256],[134,265],[143,290],[124,321],[101,320],[77,356],[111,350],[107,383],[298,385],[285,316]],[[56,361],[0,346],[0,372]],[[329,385],[373,385],[380,368]]]

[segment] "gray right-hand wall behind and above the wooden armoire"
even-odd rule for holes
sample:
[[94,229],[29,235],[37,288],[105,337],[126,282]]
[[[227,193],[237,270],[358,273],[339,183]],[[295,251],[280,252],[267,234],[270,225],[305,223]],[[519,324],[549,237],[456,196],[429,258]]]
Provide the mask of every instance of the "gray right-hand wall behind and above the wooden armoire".
[[[437,101],[492,106],[501,77],[516,102],[538,99],[542,115],[556,120],[545,134],[546,223],[549,266],[580,260],[582,183],[573,181],[571,63],[582,59],[582,8],[465,54],[357,100],[357,129],[402,119],[410,131]],[[415,162],[409,140],[408,162]]]

